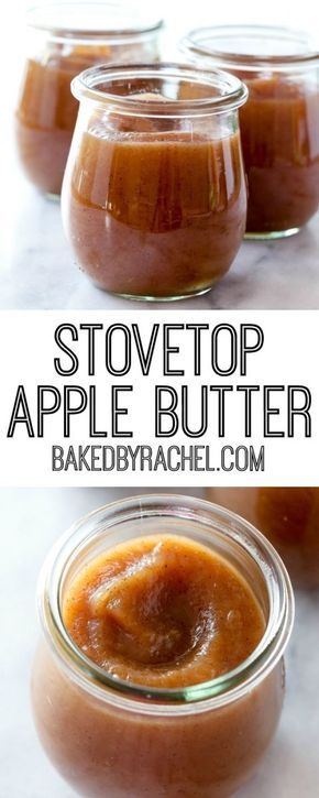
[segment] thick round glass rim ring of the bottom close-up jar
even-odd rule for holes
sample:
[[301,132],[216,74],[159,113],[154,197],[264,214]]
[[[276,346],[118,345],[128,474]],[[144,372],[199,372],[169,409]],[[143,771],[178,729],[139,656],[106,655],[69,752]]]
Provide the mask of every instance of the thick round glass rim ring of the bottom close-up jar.
[[[228,537],[260,566],[268,588],[270,617],[252,654],[237,668],[204,684],[185,688],[151,688],[122,681],[89,659],[69,636],[62,617],[62,580],[74,553],[80,554],[99,534],[119,529],[133,518],[176,517],[200,522]],[[141,534],[143,534],[141,532]],[[136,537],[132,533],[131,537]],[[277,581],[276,581],[277,580]],[[275,667],[288,643],[294,621],[294,595],[287,571],[272,544],[246,521],[217,504],[179,494],[144,494],[107,504],[74,524],[55,544],[38,583],[38,612],[45,637],[62,666],[80,687],[105,701],[146,713],[172,710],[182,714],[217,708],[237,700]],[[170,708],[170,709],[169,709]]]

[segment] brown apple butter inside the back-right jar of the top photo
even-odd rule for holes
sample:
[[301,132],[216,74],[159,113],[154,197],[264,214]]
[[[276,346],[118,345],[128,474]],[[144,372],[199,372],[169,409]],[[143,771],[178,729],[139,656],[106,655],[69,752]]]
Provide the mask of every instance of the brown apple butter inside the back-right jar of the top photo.
[[319,91],[306,78],[251,78],[240,128],[249,183],[246,231],[305,225],[319,207]]

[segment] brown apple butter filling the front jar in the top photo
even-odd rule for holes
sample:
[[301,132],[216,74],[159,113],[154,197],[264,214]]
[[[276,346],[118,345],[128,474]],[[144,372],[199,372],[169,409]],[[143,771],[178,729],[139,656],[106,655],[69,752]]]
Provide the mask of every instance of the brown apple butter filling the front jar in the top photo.
[[211,140],[146,124],[139,132],[136,118],[131,132],[108,131],[92,120],[82,134],[65,186],[68,238],[109,292],[198,293],[228,271],[244,233],[239,134]]

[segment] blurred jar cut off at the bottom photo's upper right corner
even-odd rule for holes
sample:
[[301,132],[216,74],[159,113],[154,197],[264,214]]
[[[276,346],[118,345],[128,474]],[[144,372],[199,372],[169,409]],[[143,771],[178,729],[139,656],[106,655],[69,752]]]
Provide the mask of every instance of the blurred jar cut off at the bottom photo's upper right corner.
[[261,529],[296,587],[319,588],[319,488],[208,488],[207,498]]

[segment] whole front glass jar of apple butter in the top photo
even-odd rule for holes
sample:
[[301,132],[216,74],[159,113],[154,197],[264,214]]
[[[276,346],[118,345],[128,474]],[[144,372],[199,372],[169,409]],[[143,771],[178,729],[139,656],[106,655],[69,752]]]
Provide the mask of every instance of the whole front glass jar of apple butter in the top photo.
[[129,298],[201,294],[243,238],[241,81],[179,65],[97,67],[80,100],[63,219],[82,271]]

